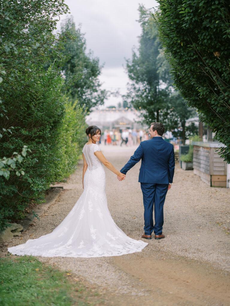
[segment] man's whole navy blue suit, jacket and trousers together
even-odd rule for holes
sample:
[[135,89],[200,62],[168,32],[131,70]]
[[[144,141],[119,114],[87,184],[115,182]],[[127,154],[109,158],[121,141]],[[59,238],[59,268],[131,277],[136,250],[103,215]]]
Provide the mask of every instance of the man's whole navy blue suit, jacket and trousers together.
[[160,136],[141,141],[134,155],[130,157],[120,172],[126,174],[140,159],[141,168],[138,182],[141,183],[143,193],[145,234],[151,235],[154,231],[155,235],[161,235],[164,223],[164,200],[168,184],[172,183],[174,175],[174,147]]

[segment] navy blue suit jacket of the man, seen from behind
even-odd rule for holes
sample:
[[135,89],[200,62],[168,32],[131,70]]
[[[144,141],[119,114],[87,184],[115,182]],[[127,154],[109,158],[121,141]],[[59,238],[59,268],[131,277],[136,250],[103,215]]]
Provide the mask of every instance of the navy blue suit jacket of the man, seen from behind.
[[120,170],[126,174],[141,159],[138,182],[140,183],[172,183],[175,157],[174,147],[160,136],[141,141],[130,160]]

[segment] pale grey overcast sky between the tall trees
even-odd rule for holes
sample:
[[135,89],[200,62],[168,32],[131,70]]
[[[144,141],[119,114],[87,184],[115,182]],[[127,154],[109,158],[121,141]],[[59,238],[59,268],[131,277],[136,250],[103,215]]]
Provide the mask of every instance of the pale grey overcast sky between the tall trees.
[[[102,87],[121,94],[126,92],[127,74],[123,68],[124,58],[131,58],[132,47],[138,46],[138,35],[141,33],[138,6],[156,7],[155,0],[66,0],[76,26],[81,24],[81,32],[85,33],[87,50],[104,64],[100,76]],[[67,14],[70,16],[70,14]],[[63,15],[61,21],[66,17]],[[59,28],[59,25],[58,25]],[[119,97],[111,97],[105,106],[117,105]]]

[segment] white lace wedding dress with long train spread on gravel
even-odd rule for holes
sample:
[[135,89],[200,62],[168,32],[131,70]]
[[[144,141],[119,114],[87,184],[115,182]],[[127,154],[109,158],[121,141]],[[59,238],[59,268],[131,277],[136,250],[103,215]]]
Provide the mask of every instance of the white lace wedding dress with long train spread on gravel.
[[84,191],[64,220],[49,234],[8,248],[14,255],[43,257],[101,257],[141,252],[148,244],[128,237],[113,221],[107,207],[105,171],[94,155],[98,144],[85,144],[88,164]]

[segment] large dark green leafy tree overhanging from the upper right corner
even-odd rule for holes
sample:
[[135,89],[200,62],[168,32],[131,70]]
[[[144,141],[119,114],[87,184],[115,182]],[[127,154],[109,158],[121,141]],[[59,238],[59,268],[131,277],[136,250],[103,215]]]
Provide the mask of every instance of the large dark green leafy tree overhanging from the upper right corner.
[[159,0],[156,22],[176,88],[225,144],[230,162],[230,7],[227,0]]

